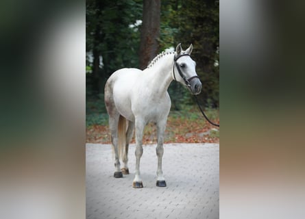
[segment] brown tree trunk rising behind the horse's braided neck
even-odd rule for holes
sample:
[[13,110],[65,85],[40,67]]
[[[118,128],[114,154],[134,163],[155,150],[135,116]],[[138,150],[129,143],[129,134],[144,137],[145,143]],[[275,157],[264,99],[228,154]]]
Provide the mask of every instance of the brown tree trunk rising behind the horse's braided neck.
[[160,36],[160,0],[143,1],[143,21],[141,27],[140,66],[144,69],[149,61],[158,55]]

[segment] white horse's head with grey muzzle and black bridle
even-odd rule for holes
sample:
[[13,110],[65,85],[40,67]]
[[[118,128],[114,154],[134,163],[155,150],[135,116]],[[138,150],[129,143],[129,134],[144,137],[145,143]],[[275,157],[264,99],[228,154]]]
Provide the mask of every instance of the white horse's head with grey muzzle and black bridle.
[[192,94],[199,94],[202,90],[202,83],[196,73],[196,62],[191,59],[193,44],[183,51],[181,43],[178,44],[175,50],[173,79],[184,84]]

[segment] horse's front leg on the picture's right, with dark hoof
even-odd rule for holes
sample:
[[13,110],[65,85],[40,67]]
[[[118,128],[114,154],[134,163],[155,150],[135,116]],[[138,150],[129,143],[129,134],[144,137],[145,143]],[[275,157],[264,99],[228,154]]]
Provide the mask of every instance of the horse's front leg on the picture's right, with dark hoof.
[[161,121],[157,123],[157,136],[158,136],[158,144],[156,148],[156,153],[158,156],[158,169],[157,169],[157,183],[156,185],[159,187],[166,187],[167,183],[165,182],[163,172],[162,172],[162,157],[164,153],[163,142],[164,142],[164,131],[167,125],[167,121]]

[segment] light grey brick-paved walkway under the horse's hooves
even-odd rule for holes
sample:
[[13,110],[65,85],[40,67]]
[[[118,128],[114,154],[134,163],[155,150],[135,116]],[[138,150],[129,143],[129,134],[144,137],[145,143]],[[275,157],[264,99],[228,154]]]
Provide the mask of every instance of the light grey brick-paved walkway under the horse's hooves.
[[219,218],[219,144],[164,144],[167,187],[156,187],[156,145],[143,146],[144,188],[132,188],[136,159],[130,145],[130,175],[114,179],[110,144],[86,144],[86,218]]

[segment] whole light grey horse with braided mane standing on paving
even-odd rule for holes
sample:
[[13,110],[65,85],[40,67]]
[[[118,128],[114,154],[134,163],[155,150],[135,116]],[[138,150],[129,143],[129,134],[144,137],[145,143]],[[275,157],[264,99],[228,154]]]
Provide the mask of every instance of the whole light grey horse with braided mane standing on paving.
[[[111,141],[114,149],[114,177],[129,174],[128,146],[136,128],[136,173],[132,186],[143,188],[140,159],[143,154],[143,130],[147,123],[156,123],[158,144],[157,182],[167,186],[162,172],[164,130],[171,108],[167,89],[171,81],[184,84],[192,94],[199,94],[202,83],[191,59],[193,45],[186,51],[178,44],[175,52],[160,53],[144,70],[122,68],[114,72],[105,86],[105,103],[109,114]],[[122,167],[121,167],[121,162]]]

